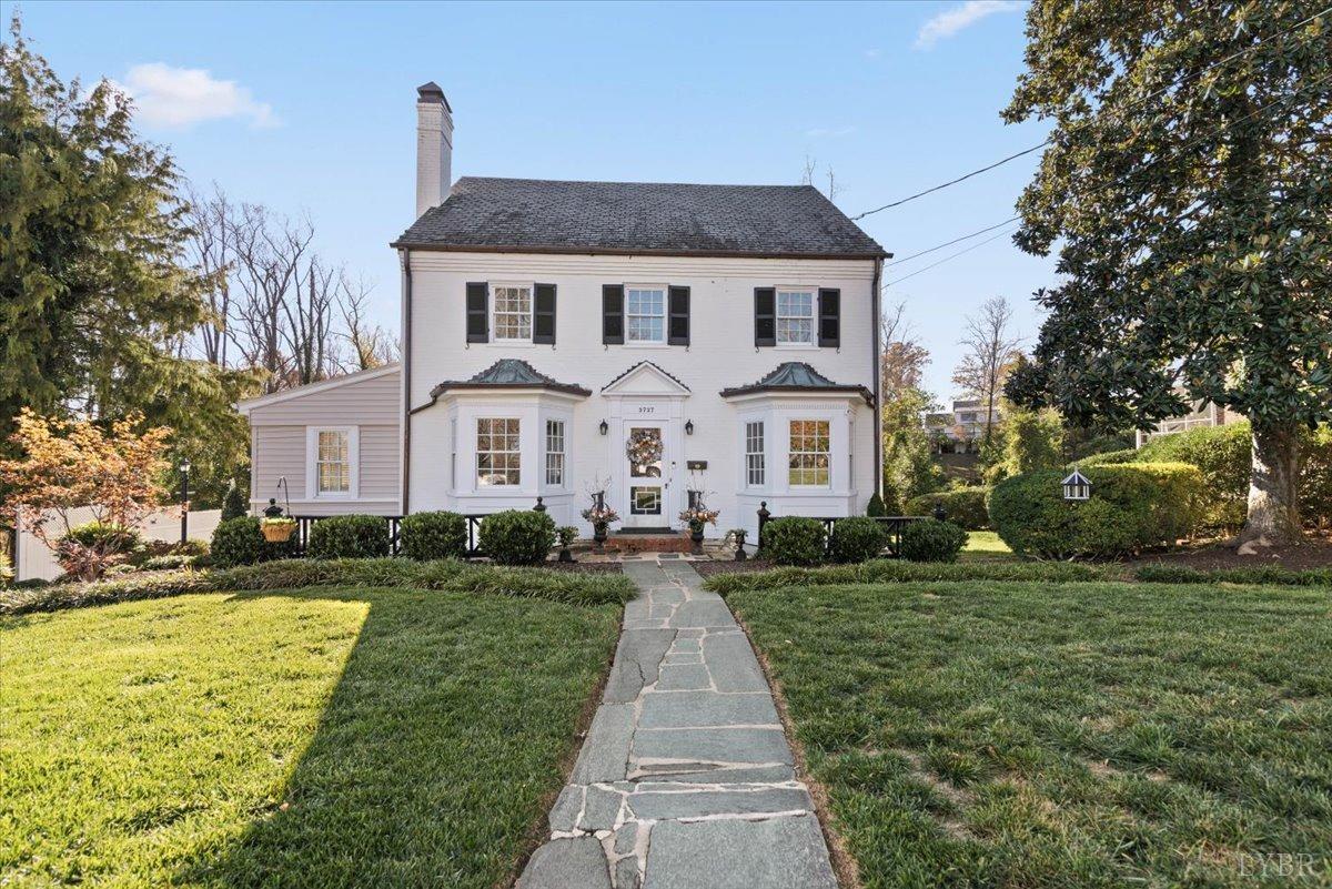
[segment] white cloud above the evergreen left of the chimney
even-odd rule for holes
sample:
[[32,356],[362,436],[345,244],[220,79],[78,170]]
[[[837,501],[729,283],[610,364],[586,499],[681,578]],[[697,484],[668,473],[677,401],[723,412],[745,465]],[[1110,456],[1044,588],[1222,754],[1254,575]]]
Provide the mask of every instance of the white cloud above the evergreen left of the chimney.
[[216,80],[202,68],[173,68],[153,61],[125,72],[112,87],[135,100],[136,117],[159,126],[192,126],[206,120],[241,118],[250,126],[277,126],[268,102],[254,101],[234,80]]

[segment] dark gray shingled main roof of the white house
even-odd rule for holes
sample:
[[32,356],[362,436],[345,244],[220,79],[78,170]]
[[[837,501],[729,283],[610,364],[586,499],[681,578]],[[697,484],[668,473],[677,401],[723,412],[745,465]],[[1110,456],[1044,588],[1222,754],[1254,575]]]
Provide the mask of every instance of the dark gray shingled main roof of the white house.
[[882,257],[810,185],[563,182],[466,176],[393,246],[545,253]]

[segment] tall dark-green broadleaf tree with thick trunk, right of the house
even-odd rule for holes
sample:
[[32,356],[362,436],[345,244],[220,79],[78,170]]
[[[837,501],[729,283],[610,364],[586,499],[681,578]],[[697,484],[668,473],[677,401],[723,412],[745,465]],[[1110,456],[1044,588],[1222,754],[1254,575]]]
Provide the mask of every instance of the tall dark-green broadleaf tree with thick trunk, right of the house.
[[1054,124],[1023,249],[1064,281],[1008,395],[1147,429],[1245,414],[1244,540],[1300,536],[1301,427],[1332,417],[1332,13],[1323,0],[1035,0],[1008,121]]

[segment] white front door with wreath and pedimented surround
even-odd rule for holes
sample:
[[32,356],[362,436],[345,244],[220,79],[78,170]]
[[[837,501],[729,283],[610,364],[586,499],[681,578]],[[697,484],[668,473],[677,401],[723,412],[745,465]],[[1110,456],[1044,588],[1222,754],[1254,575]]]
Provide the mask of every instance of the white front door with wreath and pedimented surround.
[[[642,362],[601,391],[606,399],[610,430],[606,435],[606,467],[610,470],[610,504],[625,528],[678,528],[686,506],[685,402],[690,391],[653,363]],[[659,475],[655,467],[630,467],[625,446],[635,429],[657,430],[662,439]],[[634,508],[633,488],[639,508]],[[654,494],[659,491],[659,502]],[[649,507],[645,510],[643,507]]]

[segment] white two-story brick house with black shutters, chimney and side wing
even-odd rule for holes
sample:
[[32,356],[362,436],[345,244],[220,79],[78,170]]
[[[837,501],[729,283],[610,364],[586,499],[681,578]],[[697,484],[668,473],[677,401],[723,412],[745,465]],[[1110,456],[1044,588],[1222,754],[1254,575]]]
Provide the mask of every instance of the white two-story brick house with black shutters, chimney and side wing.
[[392,245],[402,363],[242,403],[256,508],[285,478],[296,514],[539,496],[587,531],[579,512],[605,490],[617,528],[678,530],[702,491],[715,536],[753,531],[761,502],[863,512],[883,248],[811,186],[450,188],[434,84],[417,116],[417,218]]

